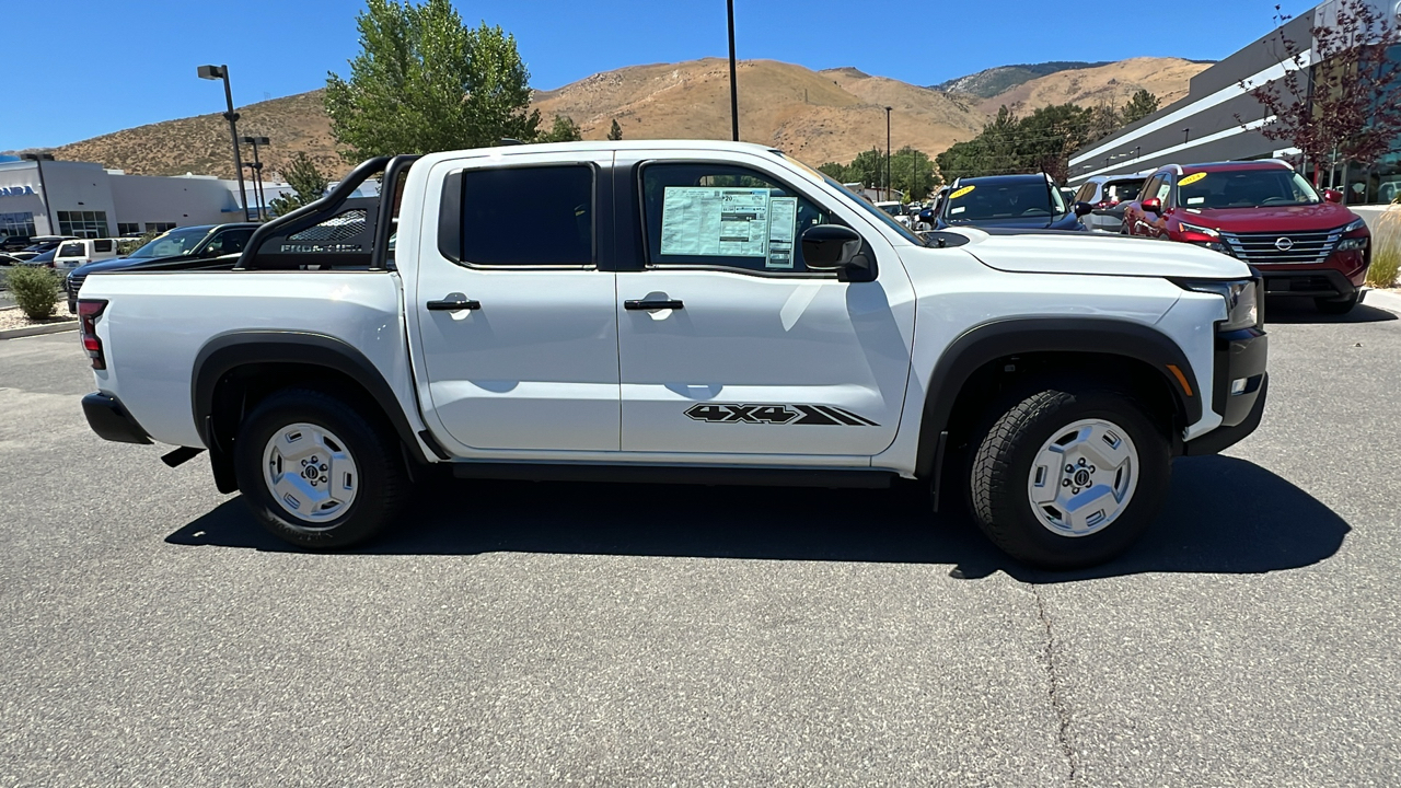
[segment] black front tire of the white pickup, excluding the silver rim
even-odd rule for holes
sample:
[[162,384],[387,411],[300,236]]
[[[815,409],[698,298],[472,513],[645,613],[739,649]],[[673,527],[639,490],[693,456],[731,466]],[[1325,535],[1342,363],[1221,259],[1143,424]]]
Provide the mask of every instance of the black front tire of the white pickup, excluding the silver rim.
[[[975,440],[968,489],[978,527],[1013,558],[1045,569],[1103,564],[1132,545],[1157,516],[1171,480],[1171,447],[1143,409],[1104,388],[1047,388],[998,415]],[[1028,496],[1042,444],[1082,419],[1103,419],[1128,432],[1138,449],[1139,478],[1128,505],[1108,526],[1087,536],[1063,536],[1042,524]]]

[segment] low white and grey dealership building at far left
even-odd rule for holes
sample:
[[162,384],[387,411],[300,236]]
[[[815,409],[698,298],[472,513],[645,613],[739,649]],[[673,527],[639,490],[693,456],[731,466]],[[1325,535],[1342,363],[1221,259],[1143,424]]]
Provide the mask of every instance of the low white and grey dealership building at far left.
[[[266,199],[286,184],[266,184]],[[252,201],[252,185],[248,185]],[[191,224],[245,222],[238,181],[127,175],[91,161],[0,161],[0,236],[140,236]]]

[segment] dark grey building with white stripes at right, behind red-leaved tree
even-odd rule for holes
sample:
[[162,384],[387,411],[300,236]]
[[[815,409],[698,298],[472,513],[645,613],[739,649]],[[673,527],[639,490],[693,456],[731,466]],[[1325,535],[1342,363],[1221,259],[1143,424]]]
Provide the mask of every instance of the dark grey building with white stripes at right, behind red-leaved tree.
[[[1401,0],[1369,0],[1383,18],[1401,24]],[[1299,43],[1303,67],[1317,69],[1311,29],[1325,27],[1334,3],[1323,3],[1290,20],[1283,28],[1192,77],[1187,98],[1166,107],[1114,135],[1077,150],[1070,157],[1070,185],[1093,175],[1114,175],[1156,170],[1164,164],[1192,164],[1250,158],[1295,160],[1297,150],[1288,142],[1271,140],[1259,129],[1274,121],[1241,83],[1258,86],[1275,81],[1296,66],[1279,45],[1281,34]],[[1387,59],[1401,63],[1401,46],[1387,50]],[[1332,177],[1351,205],[1386,203],[1401,196],[1401,137],[1391,153],[1370,167],[1339,161]]]

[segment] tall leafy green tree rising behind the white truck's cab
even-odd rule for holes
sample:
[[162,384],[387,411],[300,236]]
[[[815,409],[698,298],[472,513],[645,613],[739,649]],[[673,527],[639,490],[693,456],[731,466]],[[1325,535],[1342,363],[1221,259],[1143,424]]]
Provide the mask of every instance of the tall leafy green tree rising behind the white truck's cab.
[[367,0],[356,27],[350,76],[328,74],[325,97],[347,161],[537,137],[530,72],[502,28],[465,27],[450,0]]

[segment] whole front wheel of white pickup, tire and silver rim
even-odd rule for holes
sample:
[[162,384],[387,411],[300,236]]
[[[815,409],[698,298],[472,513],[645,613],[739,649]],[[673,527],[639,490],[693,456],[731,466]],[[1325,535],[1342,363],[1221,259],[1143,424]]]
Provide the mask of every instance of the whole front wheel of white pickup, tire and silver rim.
[[1048,388],[996,419],[968,481],[978,526],[998,547],[1034,566],[1073,569],[1133,544],[1170,474],[1167,437],[1133,400]]

